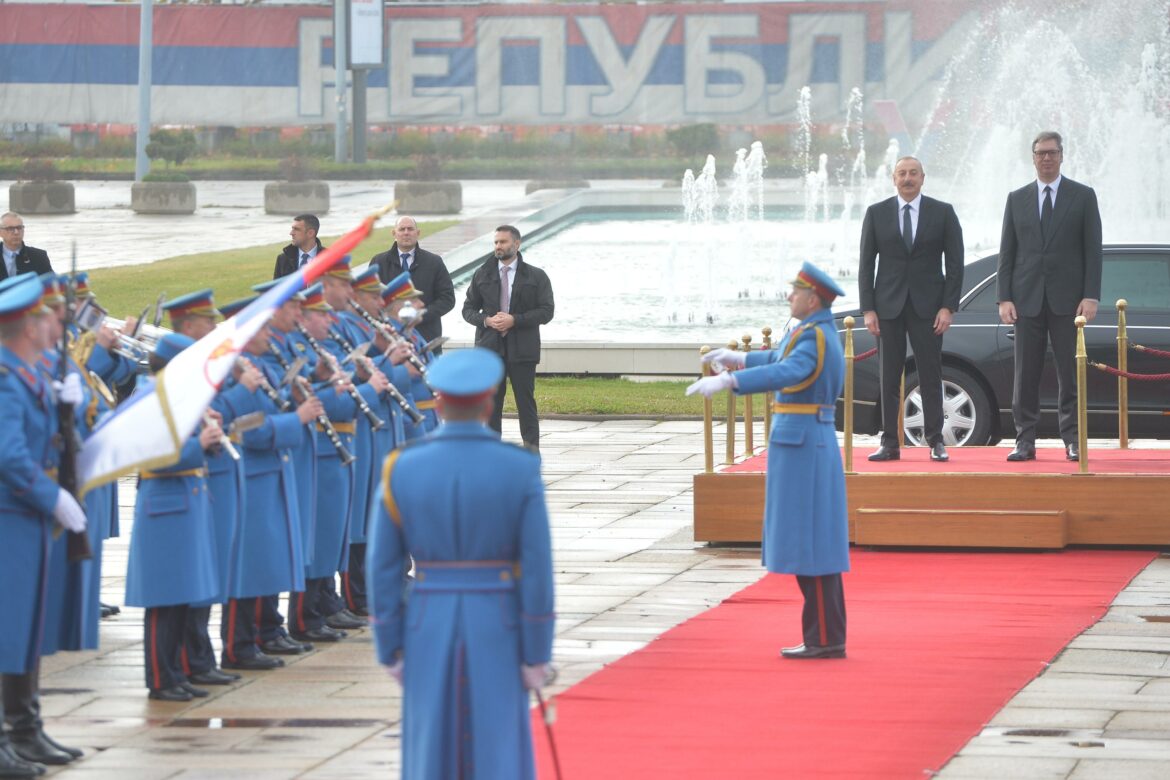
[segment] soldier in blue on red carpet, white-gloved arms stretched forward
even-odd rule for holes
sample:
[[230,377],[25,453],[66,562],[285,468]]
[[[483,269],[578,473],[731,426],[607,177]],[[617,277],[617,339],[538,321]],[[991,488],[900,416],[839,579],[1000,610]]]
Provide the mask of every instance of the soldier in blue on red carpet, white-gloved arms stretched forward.
[[833,426],[845,358],[830,311],[840,295],[845,291],[833,279],[805,263],[789,294],[800,325],[776,350],[708,352],[706,361],[728,371],[687,388],[688,395],[708,398],[723,389],[776,393],[764,493],[764,566],[796,574],[804,594],[804,643],[784,648],[785,658],[845,657],[841,573],[849,571],[849,529]]

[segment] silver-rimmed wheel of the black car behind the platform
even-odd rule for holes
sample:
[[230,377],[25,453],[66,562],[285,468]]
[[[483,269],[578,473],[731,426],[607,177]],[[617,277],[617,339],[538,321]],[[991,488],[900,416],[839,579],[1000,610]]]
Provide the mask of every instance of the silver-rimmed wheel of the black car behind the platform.
[[[925,446],[923,434],[922,394],[918,375],[906,378],[903,434],[909,444]],[[947,447],[982,447],[991,442],[991,401],[975,377],[943,366],[943,443]]]

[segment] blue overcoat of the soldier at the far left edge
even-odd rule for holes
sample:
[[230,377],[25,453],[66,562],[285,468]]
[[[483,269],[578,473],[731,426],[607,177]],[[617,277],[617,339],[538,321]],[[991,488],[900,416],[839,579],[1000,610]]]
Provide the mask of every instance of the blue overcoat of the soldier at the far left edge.
[[5,629],[0,631],[0,672],[23,674],[41,654],[46,589],[53,547],[53,510],[57,430],[48,382],[42,373],[0,346],[0,593]]

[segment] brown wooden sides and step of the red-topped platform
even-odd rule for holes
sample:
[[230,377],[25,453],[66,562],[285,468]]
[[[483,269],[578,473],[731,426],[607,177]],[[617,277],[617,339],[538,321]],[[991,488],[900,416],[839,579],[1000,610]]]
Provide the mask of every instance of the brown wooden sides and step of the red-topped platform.
[[[867,546],[1060,548],[1170,544],[1156,474],[847,474],[849,539]],[[695,540],[759,541],[762,472],[695,475]]]

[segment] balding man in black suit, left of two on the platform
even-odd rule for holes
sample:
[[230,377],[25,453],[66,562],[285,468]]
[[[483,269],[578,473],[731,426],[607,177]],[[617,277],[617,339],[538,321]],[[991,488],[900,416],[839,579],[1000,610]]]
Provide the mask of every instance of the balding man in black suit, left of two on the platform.
[[[906,339],[910,338],[922,396],[922,433],[930,460],[947,461],[943,442],[942,346],[963,288],[963,228],[950,203],[922,194],[922,163],[894,166],[897,195],[866,209],[858,288],[866,329],[881,357],[881,447],[870,461],[901,457],[897,429]],[[881,257],[874,272],[874,261]]]

